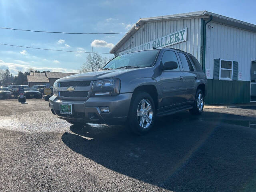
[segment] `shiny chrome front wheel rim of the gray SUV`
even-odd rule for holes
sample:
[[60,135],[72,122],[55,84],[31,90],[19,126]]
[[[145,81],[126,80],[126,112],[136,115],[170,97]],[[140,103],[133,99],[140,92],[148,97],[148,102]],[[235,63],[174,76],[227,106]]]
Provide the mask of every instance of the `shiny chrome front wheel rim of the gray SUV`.
[[142,128],[146,129],[150,126],[153,118],[153,108],[149,100],[143,99],[140,101],[137,109],[137,118]]

